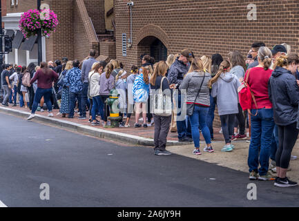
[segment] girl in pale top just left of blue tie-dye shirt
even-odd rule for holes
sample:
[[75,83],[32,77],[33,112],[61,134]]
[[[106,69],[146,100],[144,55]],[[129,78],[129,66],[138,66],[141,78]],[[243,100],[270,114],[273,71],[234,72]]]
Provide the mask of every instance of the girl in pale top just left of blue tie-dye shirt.
[[134,111],[134,96],[133,96],[133,85],[136,77],[138,76],[139,69],[137,66],[133,65],[131,67],[131,75],[126,79],[126,84],[128,88],[128,115],[126,117],[126,124],[124,127],[130,127],[129,121]]

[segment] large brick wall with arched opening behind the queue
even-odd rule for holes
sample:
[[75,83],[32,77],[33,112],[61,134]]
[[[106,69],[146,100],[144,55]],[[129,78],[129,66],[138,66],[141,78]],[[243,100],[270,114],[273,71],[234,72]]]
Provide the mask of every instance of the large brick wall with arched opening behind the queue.
[[[133,6],[133,46],[123,57],[122,33],[130,37],[127,2],[114,2],[117,59],[126,68],[140,64],[139,56],[149,52],[150,41],[142,40],[147,36],[160,39],[168,54],[189,48],[195,57],[219,52],[226,58],[231,50],[245,56],[254,41],[269,48],[286,42],[299,52],[299,1],[138,0]],[[256,21],[247,20],[250,3],[257,6]],[[215,123],[219,126],[219,119]]]

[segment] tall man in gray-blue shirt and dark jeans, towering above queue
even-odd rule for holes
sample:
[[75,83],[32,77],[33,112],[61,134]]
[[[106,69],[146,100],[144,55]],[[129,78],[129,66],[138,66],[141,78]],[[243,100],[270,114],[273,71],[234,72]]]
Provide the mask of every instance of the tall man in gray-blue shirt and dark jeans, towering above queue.
[[96,52],[95,50],[90,50],[89,57],[85,61],[83,61],[82,68],[81,68],[81,80],[83,83],[83,89],[81,93],[81,115],[79,119],[86,119],[86,105],[90,107],[89,101],[88,101],[88,74],[90,73],[91,67],[97,60],[95,59]]

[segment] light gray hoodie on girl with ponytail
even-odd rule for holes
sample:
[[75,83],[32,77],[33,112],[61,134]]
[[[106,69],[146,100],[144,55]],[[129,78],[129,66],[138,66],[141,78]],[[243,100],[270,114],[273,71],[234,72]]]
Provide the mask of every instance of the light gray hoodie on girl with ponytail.
[[232,73],[222,73],[212,86],[212,97],[217,97],[219,115],[238,113],[238,77]]

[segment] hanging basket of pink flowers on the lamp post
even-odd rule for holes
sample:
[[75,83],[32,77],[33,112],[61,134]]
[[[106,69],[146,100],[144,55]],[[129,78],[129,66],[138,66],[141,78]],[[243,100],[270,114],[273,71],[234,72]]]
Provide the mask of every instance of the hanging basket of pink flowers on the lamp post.
[[19,28],[24,37],[28,39],[30,36],[37,35],[41,29],[41,35],[50,37],[52,32],[55,32],[58,26],[57,15],[52,11],[45,9],[42,12],[39,10],[28,10],[21,15]]

